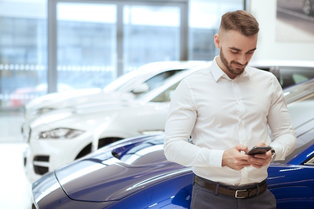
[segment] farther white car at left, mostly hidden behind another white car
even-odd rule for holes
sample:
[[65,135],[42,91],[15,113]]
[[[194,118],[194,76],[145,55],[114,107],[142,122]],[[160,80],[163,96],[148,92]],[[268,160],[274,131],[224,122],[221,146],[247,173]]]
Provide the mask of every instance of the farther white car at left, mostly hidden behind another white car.
[[30,122],[39,115],[78,104],[134,99],[140,94],[159,86],[160,82],[175,75],[177,72],[204,63],[205,61],[165,61],[149,63],[119,77],[104,89],[76,89],[61,93],[51,93],[35,98],[24,106],[24,122],[22,125],[24,140],[26,141],[29,135]]

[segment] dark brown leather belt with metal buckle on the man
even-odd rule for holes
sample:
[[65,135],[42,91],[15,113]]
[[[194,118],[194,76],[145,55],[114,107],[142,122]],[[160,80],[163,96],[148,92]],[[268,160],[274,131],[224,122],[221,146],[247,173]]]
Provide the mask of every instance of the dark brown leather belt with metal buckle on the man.
[[235,189],[235,188],[221,186],[219,183],[215,183],[215,182],[212,183],[209,181],[205,181],[201,179],[200,177],[198,177],[197,175],[195,175],[194,179],[195,179],[195,182],[199,184],[200,186],[202,186],[203,188],[216,191],[221,194],[234,196],[236,198],[246,198],[246,197],[251,197],[254,195],[257,196],[260,192],[266,190],[267,188],[266,180],[263,180],[260,183],[253,184],[252,186],[250,186],[251,188],[243,187],[243,189],[242,188]]

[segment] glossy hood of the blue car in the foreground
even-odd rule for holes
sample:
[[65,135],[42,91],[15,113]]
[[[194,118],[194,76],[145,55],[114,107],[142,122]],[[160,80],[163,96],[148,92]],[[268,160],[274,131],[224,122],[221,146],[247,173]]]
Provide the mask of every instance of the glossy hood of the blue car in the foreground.
[[145,157],[131,152],[123,155],[128,157],[124,161],[131,163],[122,162],[108,150],[60,168],[55,174],[71,199],[112,201],[171,176],[172,170],[178,174],[183,168],[182,172],[187,172],[183,166],[167,161],[163,149],[145,152]]

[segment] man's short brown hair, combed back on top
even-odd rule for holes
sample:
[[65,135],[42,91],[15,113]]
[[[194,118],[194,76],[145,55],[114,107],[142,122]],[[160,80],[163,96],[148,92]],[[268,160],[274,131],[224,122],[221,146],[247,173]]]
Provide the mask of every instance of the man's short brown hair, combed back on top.
[[244,36],[255,35],[259,31],[256,19],[244,10],[228,12],[221,17],[219,32],[238,31]]

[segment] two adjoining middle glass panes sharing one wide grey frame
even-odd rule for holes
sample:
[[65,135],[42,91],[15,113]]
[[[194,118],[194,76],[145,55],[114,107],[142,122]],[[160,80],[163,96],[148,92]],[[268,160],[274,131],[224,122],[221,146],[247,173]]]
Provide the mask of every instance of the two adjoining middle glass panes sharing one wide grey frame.
[[[179,7],[121,4],[123,37],[119,39],[118,6],[57,3],[58,86],[104,88],[141,65],[180,60]],[[117,62],[123,64],[120,73]]]

